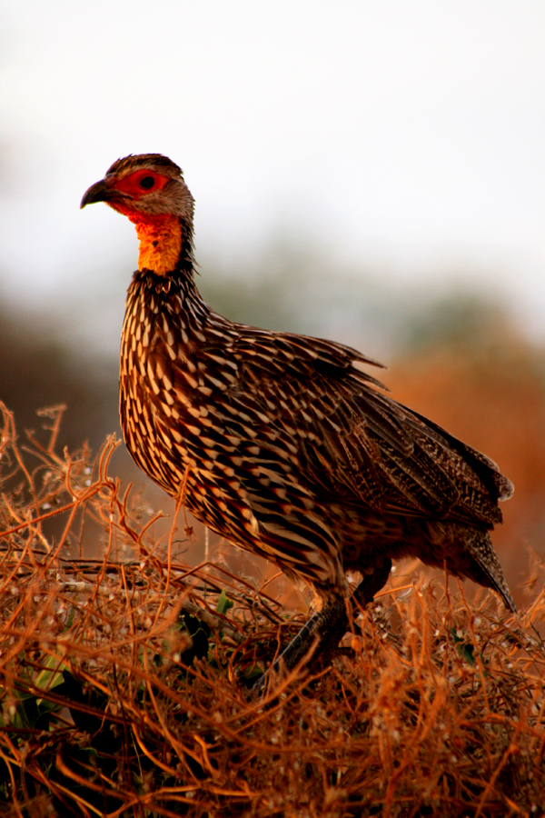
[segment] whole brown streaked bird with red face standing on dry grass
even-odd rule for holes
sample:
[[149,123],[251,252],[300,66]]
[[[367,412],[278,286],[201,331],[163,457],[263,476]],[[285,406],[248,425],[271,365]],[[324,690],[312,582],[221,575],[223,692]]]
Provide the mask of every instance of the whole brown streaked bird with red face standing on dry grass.
[[97,202],[139,240],[121,340],[124,442],[197,520],[310,587],[318,613],[286,664],[311,637],[331,638],[332,621],[345,625],[347,575],[360,572],[352,599],[367,604],[402,557],[493,589],[516,612],[490,539],[513,486],[489,457],[396,402],[367,371],[381,364],[356,349],[205,304],[193,196],[166,156],[116,160],[81,207]]

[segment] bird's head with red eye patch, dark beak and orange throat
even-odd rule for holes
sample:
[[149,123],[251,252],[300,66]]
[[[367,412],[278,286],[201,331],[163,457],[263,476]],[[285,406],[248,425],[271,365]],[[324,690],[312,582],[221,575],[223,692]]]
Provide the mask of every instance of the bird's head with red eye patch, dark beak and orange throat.
[[80,207],[94,202],[105,202],[134,223],[140,239],[141,270],[171,273],[180,260],[183,244],[191,248],[193,196],[181,169],[166,156],[144,154],[118,159],[104,179],[85,192]]

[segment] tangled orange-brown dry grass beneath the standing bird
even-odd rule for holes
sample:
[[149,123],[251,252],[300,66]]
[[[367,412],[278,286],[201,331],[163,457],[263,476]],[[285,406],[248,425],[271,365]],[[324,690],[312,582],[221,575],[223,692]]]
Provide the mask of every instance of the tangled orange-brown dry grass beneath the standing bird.
[[45,445],[6,412],[0,433],[3,815],[543,814],[543,565],[520,620],[452,582],[389,589],[329,669],[256,702],[301,618],[183,564],[183,514],[158,538],[114,441],[59,456],[49,417]]

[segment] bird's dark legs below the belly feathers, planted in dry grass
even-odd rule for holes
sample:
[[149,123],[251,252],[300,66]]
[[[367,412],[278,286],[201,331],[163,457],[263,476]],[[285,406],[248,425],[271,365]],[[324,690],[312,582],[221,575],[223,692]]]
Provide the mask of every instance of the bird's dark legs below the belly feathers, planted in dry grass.
[[[384,559],[379,568],[372,574],[366,574],[352,594],[352,601],[365,607],[372,601],[384,584],[391,571],[391,560]],[[301,631],[293,637],[292,642],[282,651],[266,673],[253,685],[254,693],[263,693],[272,675],[283,671],[289,673],[310,651],[316,643],[316,659],[324,663],[329,654],[340,643],[348,627],[346,600],[337,599],[326,605],[322,611],[315,613]]]

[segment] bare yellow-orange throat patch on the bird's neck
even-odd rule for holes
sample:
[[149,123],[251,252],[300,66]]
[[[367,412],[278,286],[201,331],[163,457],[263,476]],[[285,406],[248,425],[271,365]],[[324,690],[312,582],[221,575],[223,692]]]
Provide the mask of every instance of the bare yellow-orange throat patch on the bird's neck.
[[182,252],[182,224],[174,215],[143,216],[130,214],[140,240],[139,270],[158,275],[172,273]]

